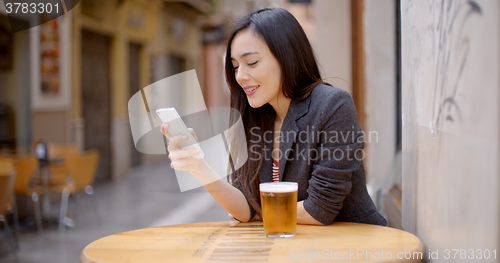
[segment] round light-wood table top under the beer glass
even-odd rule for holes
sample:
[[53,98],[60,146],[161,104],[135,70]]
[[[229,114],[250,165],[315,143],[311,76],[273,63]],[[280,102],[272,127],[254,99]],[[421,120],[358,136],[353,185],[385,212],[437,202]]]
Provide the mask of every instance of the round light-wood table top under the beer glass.
[[213,222],[139,229],[89,244],[80,262],[420,262],[414,235],[357,223],[297,225],[292,238],[266,238],[262,222]]

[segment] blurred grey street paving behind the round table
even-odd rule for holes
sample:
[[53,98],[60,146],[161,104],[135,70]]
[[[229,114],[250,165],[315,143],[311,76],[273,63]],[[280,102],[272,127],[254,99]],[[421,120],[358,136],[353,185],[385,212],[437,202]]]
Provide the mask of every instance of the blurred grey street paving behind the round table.
[[[66,228],[64,235],[58,233],[57,225],[40,235],[33,227],[22,227],[18,262],[79,262],[86,245],[110,234],[155,225],[229,220],[204,188],[181,193],[168,162],[138,167],[123,180],[97,185],[78,207],[70,202],[70,212],[76,226]],[[15,262],[12,254],[6,254],[9,248],[1,228],[0,262]]]

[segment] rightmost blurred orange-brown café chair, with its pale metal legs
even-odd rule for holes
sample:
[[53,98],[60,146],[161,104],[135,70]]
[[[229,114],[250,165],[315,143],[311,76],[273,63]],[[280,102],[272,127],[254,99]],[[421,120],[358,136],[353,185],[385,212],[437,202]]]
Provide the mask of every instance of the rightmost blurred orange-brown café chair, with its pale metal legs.
[[64,185],[51,186],[51,191],[61,194],[61,210],[59,216],[59,231],[64,232],[67,218],[69,196],[72,194],[93,193],[92,183],[99,165],[99,152],[89,150],[83,154],[67,152],[64,156],[67,169],[73,180]]

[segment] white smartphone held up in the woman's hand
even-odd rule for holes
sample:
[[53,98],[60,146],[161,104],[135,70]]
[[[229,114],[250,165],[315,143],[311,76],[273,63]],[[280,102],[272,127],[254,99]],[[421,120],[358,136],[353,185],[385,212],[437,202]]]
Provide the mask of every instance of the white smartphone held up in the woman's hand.
[[188,137],[187,141],[179,142],[179,147],[183,150],[195,150],[198,149],[200,152],[197,155],[192,156],[196,159],[203,159],[205,154],[201,150],[200,145],[196,142],[193,135],[189,132],[186,124],[179,116],[179,113],[175,110],[175,108],[162,108],[157,109],[156,113],[160,116],[160,119],[163,123],[168,123],[170,126],[168,127],[168,131],[172,136],[186,135]]

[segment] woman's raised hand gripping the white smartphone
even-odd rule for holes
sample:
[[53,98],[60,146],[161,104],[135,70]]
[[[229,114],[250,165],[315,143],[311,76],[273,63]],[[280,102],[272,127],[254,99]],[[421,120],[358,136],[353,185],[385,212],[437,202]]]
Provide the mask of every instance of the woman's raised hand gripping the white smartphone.
[[[174,168],[175,170],[188,171],[191,173],[198,171],[204,164],[205,158],[196,159],[192,156],[200,153],[200,150],[181,149],[178,145],[179,142],[188,140],[188,137],[185,135],[172,136],[168,131],[168,127],[169,127],[168,124],[161,125],[161,132],[168,139],[167,150],[169,152],[168,158],[170,159],[170,167]],[[191,128],[189,128],[188,130],[196,139],[196,142],[198,142],[198,137],[194,133],[194,130]]]

